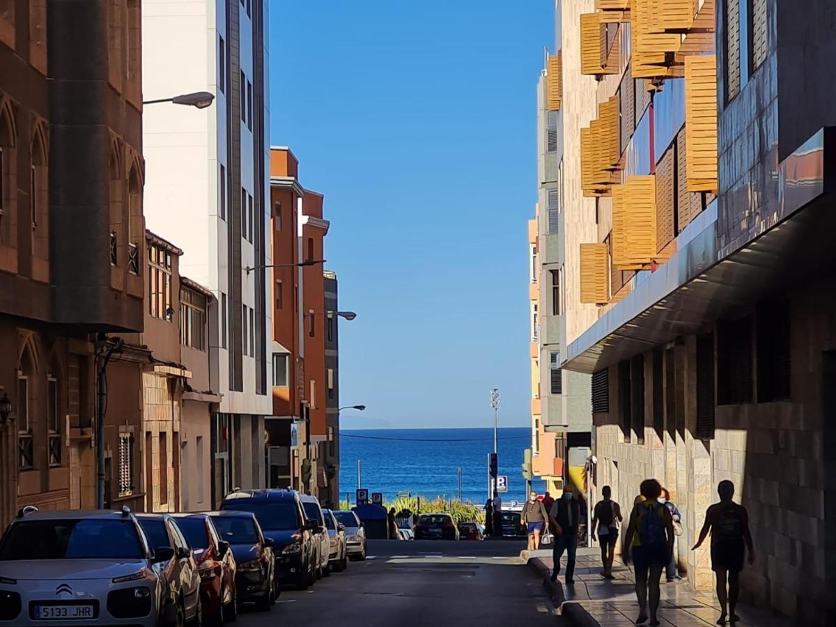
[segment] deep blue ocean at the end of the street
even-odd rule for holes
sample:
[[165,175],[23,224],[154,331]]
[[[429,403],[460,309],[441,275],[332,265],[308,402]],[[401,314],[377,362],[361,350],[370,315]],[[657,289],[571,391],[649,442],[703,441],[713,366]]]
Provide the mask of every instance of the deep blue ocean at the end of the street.
[[[385,429],[342,431],[339,438],[340,499],[357,489],[357,461],[361,461],[362,487],[383,492],[386,500],[398,492],[412,496],[458,498],[482,504],[487,498],[487,454],[493,450],[493,430],[487,429]],[[531,429],[497,430],[499,474],[508,477],[505,502],[523,502],[523,450],[531,446]],[[533,489],[545,484],[537,477]]]

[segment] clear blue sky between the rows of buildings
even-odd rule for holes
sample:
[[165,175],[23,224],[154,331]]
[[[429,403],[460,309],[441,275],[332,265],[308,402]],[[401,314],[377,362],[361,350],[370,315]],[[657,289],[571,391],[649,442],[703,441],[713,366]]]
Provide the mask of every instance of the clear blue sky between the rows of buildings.
[[343,428],[530,424],[552,0],[272,0],[270,135],[325,196]]

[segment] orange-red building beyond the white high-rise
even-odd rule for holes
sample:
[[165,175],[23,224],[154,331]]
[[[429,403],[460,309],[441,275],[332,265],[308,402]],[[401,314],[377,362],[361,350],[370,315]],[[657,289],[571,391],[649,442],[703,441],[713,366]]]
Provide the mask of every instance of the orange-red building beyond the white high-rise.
[[[323,196],[298,181],[289,148],[270,150],[273,264],[273,416],[268,418],[269,483],[324,492],[318,472],[326,440]],[[312,477],[317,484],[311,485]]]

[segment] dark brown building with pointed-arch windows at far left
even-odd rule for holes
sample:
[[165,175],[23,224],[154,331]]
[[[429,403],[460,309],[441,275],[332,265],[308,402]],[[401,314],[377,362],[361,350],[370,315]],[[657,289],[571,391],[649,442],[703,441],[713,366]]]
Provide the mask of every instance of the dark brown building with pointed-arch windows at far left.
[[139,34],[130,0],[0,3],[3,527],[96,502],[96,336],[143,322]]

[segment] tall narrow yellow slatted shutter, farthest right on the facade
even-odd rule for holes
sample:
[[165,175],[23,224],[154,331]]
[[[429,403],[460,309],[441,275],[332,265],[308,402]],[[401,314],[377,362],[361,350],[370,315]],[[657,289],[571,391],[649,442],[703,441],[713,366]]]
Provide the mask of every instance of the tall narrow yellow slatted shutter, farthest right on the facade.
[[686,57],[688,190],[717,191],[717,71],[714,54]]

